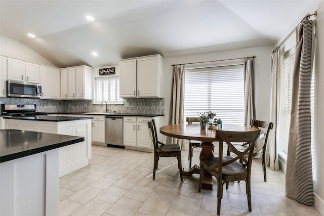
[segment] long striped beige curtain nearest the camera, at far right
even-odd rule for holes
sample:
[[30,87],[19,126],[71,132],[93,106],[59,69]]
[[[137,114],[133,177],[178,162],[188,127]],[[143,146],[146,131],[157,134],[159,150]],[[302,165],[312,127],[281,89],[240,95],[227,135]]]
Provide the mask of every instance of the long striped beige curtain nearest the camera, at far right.
[[288,141],[286,195],[305,205],[314,204],[310,88],[313,21],[296,27],[292,110]]

